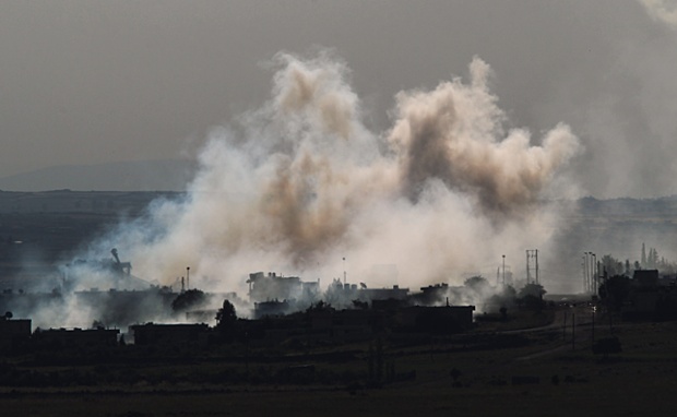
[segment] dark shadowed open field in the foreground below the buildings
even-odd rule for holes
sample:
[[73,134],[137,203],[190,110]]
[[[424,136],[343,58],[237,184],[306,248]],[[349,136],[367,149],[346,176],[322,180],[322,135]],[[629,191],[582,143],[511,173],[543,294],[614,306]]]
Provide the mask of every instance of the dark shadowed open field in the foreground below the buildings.
[[[608,332],[597,324],[595,337]],[[342,374],[367,373],[366,345],[341,348],[348,353],[342,360],[304,354],[284,360],[253,353],[249,360],[218,353],[176,360],[159,355],[135,365],[73,367],[93,376],[81,384],[4,386],[0,407],[3,416],[668,415],[677,388],[677,324],[621,323],[614,334],[623,352],[608,359],[592,354],[590,323],[577,327],[573,348],[570,332],[565,341],[558,325],[513,334],[478,329],[430,344],[385,344],[385,364],[406,378],[380,386],[340,381]],[[308,364],[312,377],[281,382],[284,369]],[[105,376],[116,372],[134,377],[106,382]],[[250,382],[229,381],[228,376],[245,372]]]

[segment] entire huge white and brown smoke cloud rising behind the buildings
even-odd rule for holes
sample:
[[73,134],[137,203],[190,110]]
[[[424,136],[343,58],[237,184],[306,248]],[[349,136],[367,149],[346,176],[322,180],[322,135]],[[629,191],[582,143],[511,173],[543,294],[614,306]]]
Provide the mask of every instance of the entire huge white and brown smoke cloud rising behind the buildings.
[[92,253],[120,248],[138,276],[164,284],[190,265],[205,289],[241,291],[253,271],[324,287],[345,263],[348,281],[415,290],[547,247],[558,213],[541,200],[569,187],[579,141],[565,124],[539,144],[506,131],[479,58],[470,82],[400,93],[383,133],[363,123],[341,60],[281,53],[274,64],[272,98],[213,131],[186,200],[155,202]]

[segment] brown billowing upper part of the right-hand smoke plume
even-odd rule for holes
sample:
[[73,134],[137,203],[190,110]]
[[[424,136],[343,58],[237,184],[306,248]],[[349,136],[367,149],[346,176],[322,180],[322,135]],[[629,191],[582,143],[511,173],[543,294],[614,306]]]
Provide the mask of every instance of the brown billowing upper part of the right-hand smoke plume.
[[530,146],[524,130],[503,138],[503,114],[488,91],[488,76],[489,67],[476,58],[471,85],[456,79],[433,92],[401,93],[389,139],[399,150],[407,194],[439,178],[488,216],[524,215],[577,152],[578,141],[563,124],[548,132],[542,146]]

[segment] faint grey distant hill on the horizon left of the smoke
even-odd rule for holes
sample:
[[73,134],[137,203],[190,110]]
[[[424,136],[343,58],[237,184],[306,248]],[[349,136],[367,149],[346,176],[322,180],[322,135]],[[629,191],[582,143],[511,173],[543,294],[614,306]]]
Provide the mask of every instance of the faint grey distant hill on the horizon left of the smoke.
[[194,171],[181,159],[62,165],[0,178],[0,190],[182,191]]

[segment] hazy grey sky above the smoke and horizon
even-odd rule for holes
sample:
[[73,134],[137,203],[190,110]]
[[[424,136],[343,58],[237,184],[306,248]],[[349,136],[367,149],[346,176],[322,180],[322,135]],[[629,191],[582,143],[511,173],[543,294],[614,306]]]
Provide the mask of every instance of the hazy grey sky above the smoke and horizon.
[[479,56],[511,126],[581,138],[585,193],[677,193],[676,3],[2,1],[0,177],[193,155],[270,96],[276,52],[324,47],[377,131],[399,91],[466,76]]

